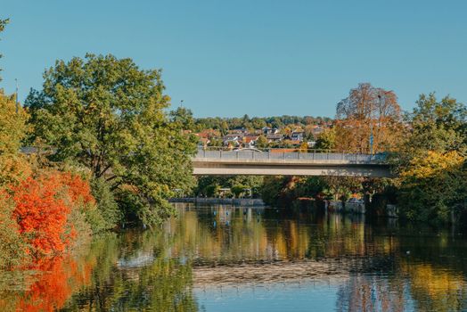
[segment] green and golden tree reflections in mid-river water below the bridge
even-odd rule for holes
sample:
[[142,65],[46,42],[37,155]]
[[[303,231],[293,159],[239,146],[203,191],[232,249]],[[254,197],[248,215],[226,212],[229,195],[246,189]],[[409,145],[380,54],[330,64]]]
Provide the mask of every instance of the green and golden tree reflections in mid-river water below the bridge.
[[397,250],[394,237],[375,236],[362,221],[328,215],[310,225],[314,217],[309,214],[281,213],[226,207],[184,209],[183,217],[169,226],[169,232],[177,234],[174,255],[189,256],[201,264],[222,264],[389,255]]

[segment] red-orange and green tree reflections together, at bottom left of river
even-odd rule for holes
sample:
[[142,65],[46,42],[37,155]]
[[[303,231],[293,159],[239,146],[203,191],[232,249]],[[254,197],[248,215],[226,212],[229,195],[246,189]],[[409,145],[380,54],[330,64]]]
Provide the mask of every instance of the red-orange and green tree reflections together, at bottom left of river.
[[[169,259],[166,243],[150,231],[104,235],[38,266],[26,290],[0,291],[0,310],[196,311],[191,265]],[[150,263],[140,261],[148,254]]]

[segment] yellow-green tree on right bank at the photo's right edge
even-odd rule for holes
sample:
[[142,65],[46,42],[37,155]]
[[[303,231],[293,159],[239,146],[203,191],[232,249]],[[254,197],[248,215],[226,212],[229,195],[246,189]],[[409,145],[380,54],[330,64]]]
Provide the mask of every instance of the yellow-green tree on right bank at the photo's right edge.
[[390,158],[399,174],[400,211],[409,219],[455,221],[467,201],[467,108],[448,96],[438,101],[422,94],[408,122],[412,131]]

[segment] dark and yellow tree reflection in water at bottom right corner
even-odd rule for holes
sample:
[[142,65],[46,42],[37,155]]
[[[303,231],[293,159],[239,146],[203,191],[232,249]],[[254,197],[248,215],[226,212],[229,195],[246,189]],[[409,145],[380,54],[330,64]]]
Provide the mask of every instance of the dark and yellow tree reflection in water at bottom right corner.
[[399,275],[410,281],[414,306],[422,311],[467,310],[465,239],[447,232],[411,228],[398,237],[401,250]]

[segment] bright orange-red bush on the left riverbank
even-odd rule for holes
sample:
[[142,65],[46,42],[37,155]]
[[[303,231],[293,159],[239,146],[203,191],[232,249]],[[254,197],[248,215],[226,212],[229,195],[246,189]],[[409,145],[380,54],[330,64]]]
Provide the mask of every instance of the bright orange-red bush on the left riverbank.
[[42,173],[12,186],[11,191],[13,218],[36,258],[65,250],[76,236],[73,228],[67,231],[71,210],[78,209],[80,202],[94,203],[86,181],[70,173]]

